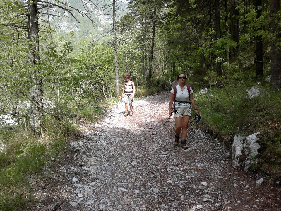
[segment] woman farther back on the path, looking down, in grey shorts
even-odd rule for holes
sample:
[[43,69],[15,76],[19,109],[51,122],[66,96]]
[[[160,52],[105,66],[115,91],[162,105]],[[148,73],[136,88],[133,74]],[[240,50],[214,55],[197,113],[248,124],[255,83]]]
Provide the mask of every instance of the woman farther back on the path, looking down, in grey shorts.
[[130,116],[133,116],[133,98],[135,96],[135,84],[133,81],[131,81],[131,76],[126,75],[125,76],[125,82],[122,89],[122,97],[124,97],[124,103],[125,103],[125,114],[124,116],[128,116],[128,103],[130,105]]

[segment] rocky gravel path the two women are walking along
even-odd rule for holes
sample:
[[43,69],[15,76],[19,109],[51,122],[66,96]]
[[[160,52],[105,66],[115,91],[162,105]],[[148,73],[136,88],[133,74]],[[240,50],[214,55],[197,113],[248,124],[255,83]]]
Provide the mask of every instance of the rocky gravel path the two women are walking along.
[[261,175],[233,169],[231,149],[196,129],[194,116],[189,149],[174,146],[174,119],[163,125],[169,96],[134,101],[133,116],[120,102],[99,122],[80,122],[81,135],[34,185],[41,205],[32,210],[59,201],[69,211],[281,210],[280,186],[256,186]]

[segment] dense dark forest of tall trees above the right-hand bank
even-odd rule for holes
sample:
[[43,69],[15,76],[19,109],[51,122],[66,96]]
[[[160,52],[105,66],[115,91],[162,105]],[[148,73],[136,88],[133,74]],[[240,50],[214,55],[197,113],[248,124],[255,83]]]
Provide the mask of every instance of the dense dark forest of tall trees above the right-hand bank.
[[[153,59],[152,76],[159,75],[157,69],[168,76],[181,68],[202,77],[208,71],[215,71],[218,78],[227,78],[230,72],[254,67],[257,79],[271,74],[274,76],[271,88],[279,89],[279,4],[279,1],[261,0],[133,0],[129,8],[142,41],[151,42],[153,5],[156,5],[155,42],[162,46],[154,54],[163,59],[157,58],[158,64]],[[127,23],[129,27],[131,23]],[[158,50],[162,52],[158,54]]]

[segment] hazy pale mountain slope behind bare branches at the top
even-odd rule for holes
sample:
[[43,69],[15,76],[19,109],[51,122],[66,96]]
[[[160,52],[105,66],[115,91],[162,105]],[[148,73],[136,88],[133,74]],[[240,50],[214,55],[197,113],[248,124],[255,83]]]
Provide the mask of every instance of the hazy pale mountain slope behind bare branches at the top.
[[[112,31],[112,0],[104,0],[96,5],[93,5],[90,1],[81,0],[66,0],[63,1],[69,6],[72,6],[83,13],[86,13],[88,17],[84,17],[78,12],[72,9],[71,13],[80,22],[78,23],[75,18],[68,12],[60,8],[56,11],[48,11],[49,14],[56,14],[57,16],[45,17],[45,20],[50,21],[52,29],[55,30],[59,36],[70,39],[70,32],[74,32],[73,42],[77,42],[79,45],[80,40],[92,39],[108,40],[113,35]],[[56,1],[54,3],[57,3]],[[116,21],[122,16],[128,13],[128,4],[125,0],[116,1]],[[88,10],[88,11],[87,11]],[[45,13],[47,13],[45,11]]]

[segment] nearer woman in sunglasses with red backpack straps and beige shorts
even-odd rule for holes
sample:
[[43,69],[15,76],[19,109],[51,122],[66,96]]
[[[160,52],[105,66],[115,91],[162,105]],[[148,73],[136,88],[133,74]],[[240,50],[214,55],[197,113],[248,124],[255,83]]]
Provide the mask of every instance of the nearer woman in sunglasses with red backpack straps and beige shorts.
[[[179,84],[174,86],[176,89],[174,91],[174,87],[171,90],[171,97],[169,103],[169,115],[172,115],[172,106],[175,100],[175,110],[177,112],[174,113],[174,119],[176,122],[175,128],[175,146],[179,145],[179,135],[181,133],[181,147],[183,149],[188,149],[186,146],[186,136],[187,136],[187,126],[189,119],[191,117],[191,104],[195,109],[195,113],[199,114],[198,109],[196,107],[195,100],[193,98],[193,90],[190,86],[185,85],[186,74],[180,73],[177,76],[177,80]],[[174,96],[174,93],[176,96]],[[182,132],[181,132],[182,131]]]

